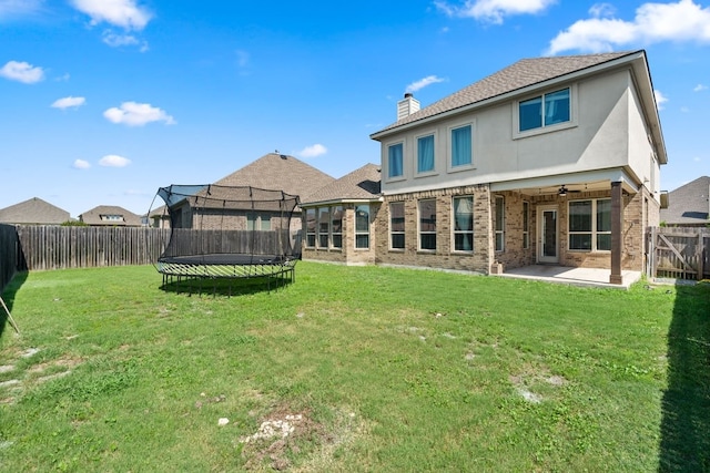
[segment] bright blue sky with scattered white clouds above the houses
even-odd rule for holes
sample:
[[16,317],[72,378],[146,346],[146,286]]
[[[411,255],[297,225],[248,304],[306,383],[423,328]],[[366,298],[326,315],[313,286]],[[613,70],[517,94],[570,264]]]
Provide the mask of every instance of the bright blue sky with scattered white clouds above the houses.
[[0,0],[0,208],[144,214],[278,150],[341,177],[407,91],[519,59],[645,49],[669,164],[710,175],[710,2]]

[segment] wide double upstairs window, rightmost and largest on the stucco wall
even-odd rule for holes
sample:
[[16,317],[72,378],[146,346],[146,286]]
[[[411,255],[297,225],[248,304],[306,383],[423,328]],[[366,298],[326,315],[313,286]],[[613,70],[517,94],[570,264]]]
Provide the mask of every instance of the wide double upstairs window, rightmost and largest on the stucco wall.
[[571,121],[569,88],[538,95],[518,103],[520,132]]

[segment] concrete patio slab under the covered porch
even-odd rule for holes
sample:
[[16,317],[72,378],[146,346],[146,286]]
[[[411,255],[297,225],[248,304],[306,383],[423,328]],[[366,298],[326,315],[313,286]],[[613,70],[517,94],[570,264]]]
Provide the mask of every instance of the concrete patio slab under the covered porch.
[[506,269],[500,275],[504,278],[535,279],[547,282],[567,284],[582,287],[604,287],[625,289],[641,279],[641,271],[621,271],[623,282],[609,284],[610,269],[572,268],[567,266],[531,265],[521,268]]

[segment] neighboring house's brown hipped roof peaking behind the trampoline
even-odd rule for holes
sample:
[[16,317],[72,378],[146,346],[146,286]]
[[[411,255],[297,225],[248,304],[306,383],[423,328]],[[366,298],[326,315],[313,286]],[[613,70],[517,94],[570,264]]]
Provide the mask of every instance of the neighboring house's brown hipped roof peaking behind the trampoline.
[[293,156],[268,153],[214,184],[283,191],[297,195],[303,200],[305,196],[333,181],[333,176]]

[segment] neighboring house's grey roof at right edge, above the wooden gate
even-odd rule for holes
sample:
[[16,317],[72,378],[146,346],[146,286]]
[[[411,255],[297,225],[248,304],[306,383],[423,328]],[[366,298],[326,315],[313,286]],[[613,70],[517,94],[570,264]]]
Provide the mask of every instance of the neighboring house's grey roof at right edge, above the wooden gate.
[[661,208],[661,223],[673,227],[710,225],[710,177],[702,176],[671,191],[668,208]]

